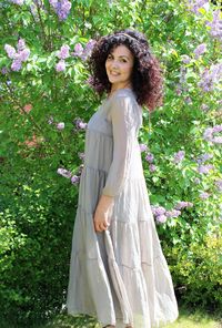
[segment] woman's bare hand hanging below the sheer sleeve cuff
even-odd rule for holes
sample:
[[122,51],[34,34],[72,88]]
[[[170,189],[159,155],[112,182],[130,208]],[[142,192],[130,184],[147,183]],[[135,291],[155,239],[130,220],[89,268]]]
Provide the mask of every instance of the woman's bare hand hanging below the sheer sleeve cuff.
[[102,195],[94,212],[94,229],[95,232],[107,230],[110,225],[110,212],[113,206],[113,197]]

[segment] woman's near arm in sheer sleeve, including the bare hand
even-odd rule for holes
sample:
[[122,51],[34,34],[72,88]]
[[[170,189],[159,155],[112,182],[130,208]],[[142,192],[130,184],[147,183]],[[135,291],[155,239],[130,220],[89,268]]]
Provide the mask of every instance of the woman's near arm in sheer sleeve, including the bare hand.
[[110,120],[113,130],[113,158],[94,214],[94,226],[98,232],[108,228],[114,196],[121,192],[129,173],[135,139],[133,104],[129,96],[115,98],[112,101]]

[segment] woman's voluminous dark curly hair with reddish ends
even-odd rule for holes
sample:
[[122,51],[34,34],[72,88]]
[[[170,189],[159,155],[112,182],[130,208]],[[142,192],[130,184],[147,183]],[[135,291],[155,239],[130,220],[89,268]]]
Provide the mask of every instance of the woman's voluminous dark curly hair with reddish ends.
[[118,45],[125,45],[134,57],[132,89],[140,105],[153,111],[163,102],[163,78],[159,60],[151,53],[145,35],[132,29],[115,31],[95,40],[88,59],[90,85],[102,95],[111,91],[111,83],[105,71],[108,54]]

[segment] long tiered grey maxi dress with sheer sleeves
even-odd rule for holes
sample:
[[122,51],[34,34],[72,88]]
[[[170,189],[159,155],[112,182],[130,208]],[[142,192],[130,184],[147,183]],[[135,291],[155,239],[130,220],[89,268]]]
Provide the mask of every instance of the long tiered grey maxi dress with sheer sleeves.
[[[97,317],[102,327],[161,327],[179,315],[143,175],[141,125],[133,91],[120,89],[85,131],[67,308]],[[97,233],[93,214],[102,194],[114,202],[109,229]]]

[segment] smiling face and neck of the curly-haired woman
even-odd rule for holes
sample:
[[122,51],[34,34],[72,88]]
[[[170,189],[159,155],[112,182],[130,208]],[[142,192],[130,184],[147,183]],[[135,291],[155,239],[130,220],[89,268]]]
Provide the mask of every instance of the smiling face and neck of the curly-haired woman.
[[121,44],[111,50],[105,61],[105,70],[112,90],[132,86],[133,63],[134,57],[125,45]]

